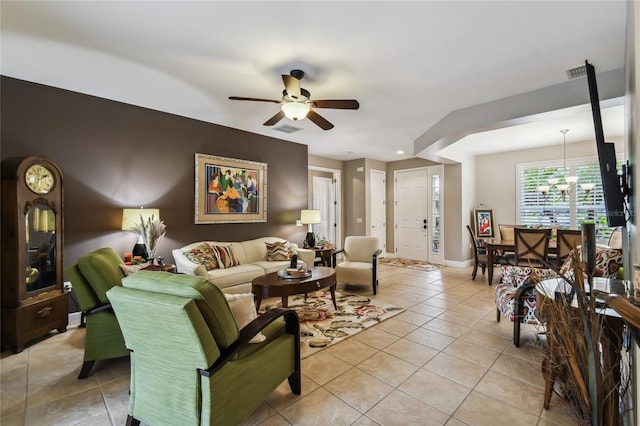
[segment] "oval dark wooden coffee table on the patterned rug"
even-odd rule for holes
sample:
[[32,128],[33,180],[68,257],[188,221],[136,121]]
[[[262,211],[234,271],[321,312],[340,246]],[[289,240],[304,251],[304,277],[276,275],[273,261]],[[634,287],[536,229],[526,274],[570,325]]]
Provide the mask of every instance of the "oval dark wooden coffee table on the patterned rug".
[[265,297],[282,297],[282,307],[289,307],[289,296],[311,293],[329,287],[333,307],[336,305],[336,270],[327,266],[316,266],[311,269],[311,276],[306,278],[280,278],[277,272],[256,277],[251,281],[251,292],[256,296],[256,310]]

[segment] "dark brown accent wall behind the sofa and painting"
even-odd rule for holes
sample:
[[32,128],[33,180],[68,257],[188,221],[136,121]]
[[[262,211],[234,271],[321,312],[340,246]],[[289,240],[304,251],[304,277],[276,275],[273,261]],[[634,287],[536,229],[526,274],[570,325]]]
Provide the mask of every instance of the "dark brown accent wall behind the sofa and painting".
[[[304,239],[306,145],[6,76],[0,96],[1,158],[39,155],[62,169],[65,265],[100,247],[130,251],[122,208],[142,205],[160,209],[169,262],[194,241]],[[267,222],[195,225],[195,153],[267,163]]]

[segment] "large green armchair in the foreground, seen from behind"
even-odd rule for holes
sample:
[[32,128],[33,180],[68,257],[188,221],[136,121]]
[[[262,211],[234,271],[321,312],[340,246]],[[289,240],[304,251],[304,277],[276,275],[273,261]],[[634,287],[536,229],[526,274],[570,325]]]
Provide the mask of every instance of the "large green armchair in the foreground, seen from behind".
[[[235,425],[285,379],[300,394],[294,310],[270,310],[238,330],[218,287],[167,272],[136,272],[107,295],[131,351],[127,424]],[[266,339],[249,343],[258,332]]]

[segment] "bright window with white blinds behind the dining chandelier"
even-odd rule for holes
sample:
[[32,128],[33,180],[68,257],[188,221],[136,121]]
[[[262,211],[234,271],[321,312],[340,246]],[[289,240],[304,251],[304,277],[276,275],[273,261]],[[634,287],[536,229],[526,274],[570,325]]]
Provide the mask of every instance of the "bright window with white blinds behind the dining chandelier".
[[[618,156],[622,158],[622,156]],[[618,162],[618,166],[622,161]],[[523,225],[560,226],[579,229],[585,220],[596,223],[598,241],[607,241],[612,229],[607,227],[604,194],[600,182],[600,166],[596,157],[573,158],[566,160],[566,173],[563,161],[544,161],[520,163],[516,165],[517,216]],[[549,185],[549,179],[557,178],[564,183],[564,176],[575,175],[579,180],[569,192],[561,194],[551,187],[543,194],[540,186]],[[586,191],[581,184],[593,183],[595,187]]]

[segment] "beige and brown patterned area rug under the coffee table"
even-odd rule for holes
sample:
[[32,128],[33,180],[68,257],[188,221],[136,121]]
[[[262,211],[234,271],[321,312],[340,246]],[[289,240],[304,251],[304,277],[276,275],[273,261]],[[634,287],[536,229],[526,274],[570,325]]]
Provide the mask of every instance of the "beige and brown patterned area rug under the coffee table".
[[[367,328],[399,314],[404,309],[382,303],[368,296],[358,296],[336,290],[333,307],[329,290],[289,296],[289,308],[300,318],[300,356],[306,358]],[[260,312],[279,308],[282,304],[268,303]]]

